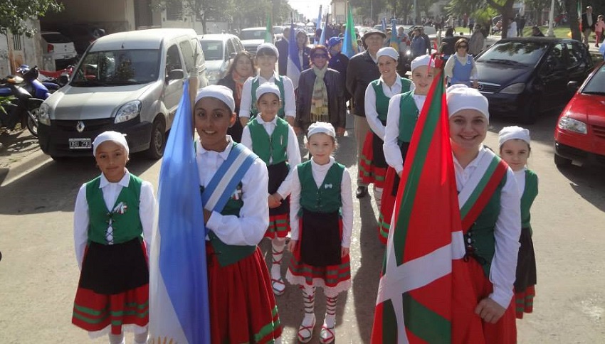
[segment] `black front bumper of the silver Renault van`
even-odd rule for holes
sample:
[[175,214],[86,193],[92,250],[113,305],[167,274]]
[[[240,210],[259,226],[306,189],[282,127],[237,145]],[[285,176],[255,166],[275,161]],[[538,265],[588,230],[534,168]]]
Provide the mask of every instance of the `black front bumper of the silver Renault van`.
[[94,141],[103,131],[115,130],[126,135],[131,153],[149,148],[152,123],[138,122],[137,119],[114,124],[113,118],[90,119],[82,121],[84,130],[78,132],[76,126],[80,121],[51,121],[50,126],[38,126],[38,143],[42,151],[50,156],[92,156],[93,149],[70,149],[69,139],[90,139]]

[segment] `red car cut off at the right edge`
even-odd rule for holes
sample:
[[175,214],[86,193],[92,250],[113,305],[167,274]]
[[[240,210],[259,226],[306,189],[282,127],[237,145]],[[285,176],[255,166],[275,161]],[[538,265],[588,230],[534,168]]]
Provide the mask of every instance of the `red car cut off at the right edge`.
[[554,129],[555,165],[572,161],[605,166],[605,62],[579,87]]

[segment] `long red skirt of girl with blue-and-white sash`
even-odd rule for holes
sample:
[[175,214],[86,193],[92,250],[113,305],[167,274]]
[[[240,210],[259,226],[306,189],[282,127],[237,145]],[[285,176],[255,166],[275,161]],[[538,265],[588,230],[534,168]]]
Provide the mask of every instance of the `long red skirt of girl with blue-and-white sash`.
[[261,250],[226,267],[209,243],[206,254],[212,343],[273,343],[282,328]]

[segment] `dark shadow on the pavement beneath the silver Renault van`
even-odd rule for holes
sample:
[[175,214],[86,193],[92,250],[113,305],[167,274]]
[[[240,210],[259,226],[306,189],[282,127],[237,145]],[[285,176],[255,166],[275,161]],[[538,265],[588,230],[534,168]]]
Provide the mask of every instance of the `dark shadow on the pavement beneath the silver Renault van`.
[[[154,163],[156,161],[133,154],[127,168],[130,173],[139,176]],[[93,157],[48,161],[35,171],[0,186],[0,214],[73,211],[80,186],[99,174]]]

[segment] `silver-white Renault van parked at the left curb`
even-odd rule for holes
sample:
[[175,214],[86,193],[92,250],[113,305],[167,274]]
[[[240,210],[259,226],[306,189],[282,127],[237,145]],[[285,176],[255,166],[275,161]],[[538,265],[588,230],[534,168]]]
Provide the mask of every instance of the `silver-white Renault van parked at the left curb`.
[[208,84],[196,32],[159,28],[103,36],[86,50],[71,80],[43,102],[38,141],[53,159],[91,156],[102,131],[126,134],[131,152],[164,154],[166,134],[195,70]]

